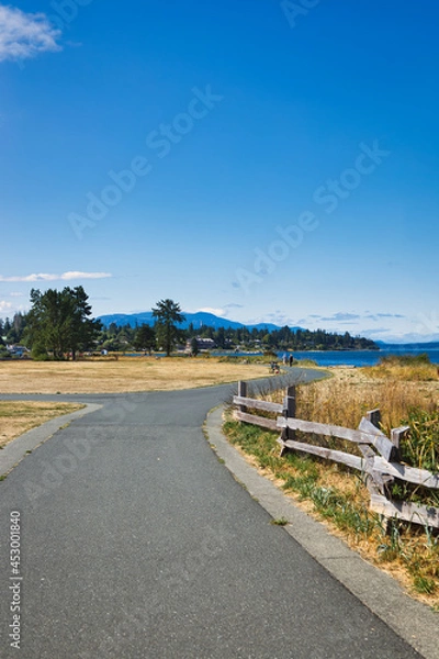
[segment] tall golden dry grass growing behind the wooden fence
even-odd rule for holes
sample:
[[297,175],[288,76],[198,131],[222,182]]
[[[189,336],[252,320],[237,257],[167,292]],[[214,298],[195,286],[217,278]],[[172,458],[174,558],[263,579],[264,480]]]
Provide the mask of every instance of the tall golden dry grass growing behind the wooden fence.
[[[371,369],[334,369],[331,378],[296,388],[296,416],[357,428],[369,410],[379,409],[381,429],[387,437],[392,428],[409,427],[401,442],[403,461],[438,472],[439,383],[418,380],[425,366],[392,364],[384,365],[381,371],[374,367],[372,378]],[[401,368],[407,371],[403,379],[394,375]],[[378,378],[380,372],[381,379]],[[283,395],[284,391],[266,391],[262,398],[282,402]],[[350,442],[302,433],[296,436],[303,442],[360,455]]]

